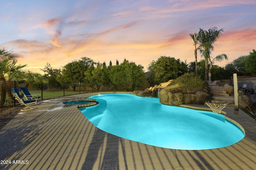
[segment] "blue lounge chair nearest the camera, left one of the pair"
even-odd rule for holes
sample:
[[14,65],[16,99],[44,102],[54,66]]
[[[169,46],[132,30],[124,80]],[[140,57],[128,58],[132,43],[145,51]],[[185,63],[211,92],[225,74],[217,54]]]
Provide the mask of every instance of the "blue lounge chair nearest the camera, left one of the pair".
[[21,111],[31,110],[31,109],[35,108],[35,107],[31,107],[30,105],[36,104],[36,99],[27,100],[27,99],[22,98],[20,96],[20,91],[17,88],[12,88],[12,94],[21,105],[26,106],[23,109],[21,109]]

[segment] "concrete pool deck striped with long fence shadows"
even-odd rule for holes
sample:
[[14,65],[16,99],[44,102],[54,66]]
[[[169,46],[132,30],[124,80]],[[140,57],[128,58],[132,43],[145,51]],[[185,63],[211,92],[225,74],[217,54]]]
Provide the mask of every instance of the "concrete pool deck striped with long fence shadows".
[[244,139],[238,143],[219,149],[175,150],[108,134],[92,125],[77,105],[62,103],[90,95],[39,102],[36,109],[16,115],[0,130],[0,169],[252,170],[256,167],[256,121],[242,110],[237,116],[234,109],[223,109],[227,117],[245,130]]

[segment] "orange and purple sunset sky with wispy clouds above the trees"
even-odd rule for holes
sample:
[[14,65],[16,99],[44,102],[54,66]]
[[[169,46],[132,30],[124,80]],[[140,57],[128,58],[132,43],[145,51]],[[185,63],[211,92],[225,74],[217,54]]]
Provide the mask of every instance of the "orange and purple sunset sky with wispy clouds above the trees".
[[256,0],[1,0],[0,48],[35,72],[81,57],[107,65],[126,58],[146,71],[160,56],[194,61],[189,34],[218,27],[212,57],[232,62],[256,49],[255,9]]

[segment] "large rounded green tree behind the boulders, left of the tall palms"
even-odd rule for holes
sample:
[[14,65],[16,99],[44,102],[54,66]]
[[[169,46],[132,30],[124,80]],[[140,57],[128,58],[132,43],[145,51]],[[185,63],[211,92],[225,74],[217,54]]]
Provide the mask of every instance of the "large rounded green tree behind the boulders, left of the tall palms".
[[175,59],[174,57],[161,56],[157,61],[152,61],[148,65],[151,71],[150,84],[160,84],[168,80],[175,79],[188,72],[186,62]]

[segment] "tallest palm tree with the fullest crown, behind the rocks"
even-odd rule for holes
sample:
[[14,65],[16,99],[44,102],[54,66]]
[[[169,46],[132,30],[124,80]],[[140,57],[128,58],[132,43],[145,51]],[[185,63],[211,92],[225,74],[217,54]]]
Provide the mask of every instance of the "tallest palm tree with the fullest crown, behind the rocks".
[[224,29],[218,30],[217,27],[211,27],[208,31],[199,28],[198,41],[200,42],[200,53],[205,60],[205,80],[208,80],[208,60],[214,49],[213,44],[217,41],[223,31]]

